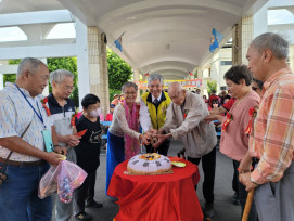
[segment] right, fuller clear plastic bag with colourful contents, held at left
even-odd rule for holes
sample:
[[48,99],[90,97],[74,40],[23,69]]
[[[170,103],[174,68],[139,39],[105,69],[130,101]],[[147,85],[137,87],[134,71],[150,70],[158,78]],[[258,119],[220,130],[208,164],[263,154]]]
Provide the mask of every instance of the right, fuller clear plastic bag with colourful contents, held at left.
[[79,166],[67,160],[62,160],[59,167],[57,195],[61,202],[68,204],[73,199],[74,190],[84,183],[88,174]]

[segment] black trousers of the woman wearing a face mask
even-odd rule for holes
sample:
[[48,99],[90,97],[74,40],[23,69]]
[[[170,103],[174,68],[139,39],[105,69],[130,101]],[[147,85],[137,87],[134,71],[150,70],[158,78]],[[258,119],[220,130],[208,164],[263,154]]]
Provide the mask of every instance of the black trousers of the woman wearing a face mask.
[[85,202],[91,204],[94,200],[95,172],[88,173],[82,185],[76,190],[77,214],[85,211]]

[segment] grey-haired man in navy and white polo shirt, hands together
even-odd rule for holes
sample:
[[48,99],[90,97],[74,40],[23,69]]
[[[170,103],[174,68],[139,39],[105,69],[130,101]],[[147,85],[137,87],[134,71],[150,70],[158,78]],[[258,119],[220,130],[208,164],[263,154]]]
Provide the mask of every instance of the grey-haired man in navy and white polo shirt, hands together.
[[[59,145],[67,148],[67,160],[76,162],[73,147],[79,144],[80,136],[74,135],[76,128],[71,125],[71,119],[75,114],[75,104],[68,99],[74,90],[74,75],[68,70],[57,69],[50,74],[50,83],[52,93],[48,96],[48,105],[57,133]],[[65,204],[55,197],[53,217],[55,214],[57,221],[71,220],[73,202]]]

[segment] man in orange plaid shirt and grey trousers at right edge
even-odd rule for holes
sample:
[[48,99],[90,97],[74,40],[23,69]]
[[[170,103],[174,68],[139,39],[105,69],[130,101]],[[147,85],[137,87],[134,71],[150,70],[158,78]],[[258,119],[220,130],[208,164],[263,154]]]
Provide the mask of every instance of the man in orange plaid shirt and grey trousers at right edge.
[[247,51],[248,69],[264,81],[259,109],[250,138],[257,158],[253,172],[240,174],[246,190],[255,191],[261,221],[294,218],[294,75],[286,64],[289,43],[279,35],[256,37]]

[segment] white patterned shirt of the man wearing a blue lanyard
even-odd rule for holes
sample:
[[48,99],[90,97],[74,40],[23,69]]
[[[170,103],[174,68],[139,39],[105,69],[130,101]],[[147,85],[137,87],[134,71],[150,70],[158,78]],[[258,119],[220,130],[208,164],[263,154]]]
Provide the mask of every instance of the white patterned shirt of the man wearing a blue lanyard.
[[[33,108],[29,106],[25,98],[18,91],[16,86],[11,82],[7,82],[7,87],[0,91],[0,138],[8,136],[21,136],[26,127],[31,121],[28,130],[26,131],[23,140],[30,145],[44,151],[44,142],[41,131],[44,129],[51,130],[52,121],[48,117],[44,108],[41,104],[41,96],[30,96],[29,92],[25,89],[20,88],[25,94],[27,100],[34,106],[38,114],[41,114],[43,123],[39,117],[35,114]],[[0,146],[0,157],[7,158],[10,150]],[[11,160],[15,161],[36,161],[39,160],[37,157],[20,154],[13,152],[10,157]]]

